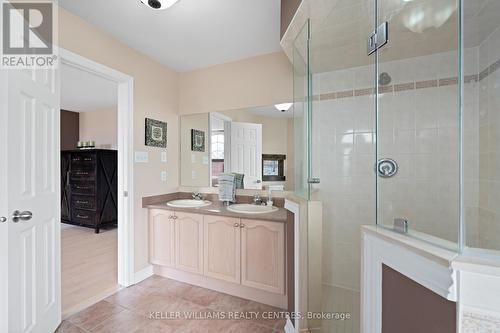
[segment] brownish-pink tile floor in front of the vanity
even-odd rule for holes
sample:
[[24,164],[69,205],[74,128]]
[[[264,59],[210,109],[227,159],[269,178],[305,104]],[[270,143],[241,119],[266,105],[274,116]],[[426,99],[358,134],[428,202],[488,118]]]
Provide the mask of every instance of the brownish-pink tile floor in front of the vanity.
[[[268,316],[270,312],[281,310],[155,275],[67,318],[56,333],[283,332],[284,319],[252,315]],[[166,318],[175,313],[181,318]],[[230,313],[253,318],[207,319]],[[189,315],[198,319],[186,318]]]

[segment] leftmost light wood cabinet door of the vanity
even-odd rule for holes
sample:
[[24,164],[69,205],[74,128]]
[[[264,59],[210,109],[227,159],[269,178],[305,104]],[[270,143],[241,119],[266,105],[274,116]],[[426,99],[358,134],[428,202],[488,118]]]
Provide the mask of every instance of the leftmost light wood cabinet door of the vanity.
[[155,265],[174,266],[175,224],[173,213],[163,209],[149,210],[149,261]]

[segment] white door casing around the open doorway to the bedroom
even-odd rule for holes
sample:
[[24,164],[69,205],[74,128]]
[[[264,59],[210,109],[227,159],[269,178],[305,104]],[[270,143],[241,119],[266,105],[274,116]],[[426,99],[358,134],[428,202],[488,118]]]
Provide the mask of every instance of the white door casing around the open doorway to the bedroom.
[[118,89],[118,283],[128,287],[134,274],[134,78],[64,48],[61,63],[117,84]]

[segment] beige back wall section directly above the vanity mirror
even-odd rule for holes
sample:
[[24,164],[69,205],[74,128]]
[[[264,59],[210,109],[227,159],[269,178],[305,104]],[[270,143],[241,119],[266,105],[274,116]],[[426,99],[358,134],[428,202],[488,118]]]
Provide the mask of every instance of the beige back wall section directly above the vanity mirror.
[[292,65],[282,52],[180,74],[181,114],[274,105],[292,99]]

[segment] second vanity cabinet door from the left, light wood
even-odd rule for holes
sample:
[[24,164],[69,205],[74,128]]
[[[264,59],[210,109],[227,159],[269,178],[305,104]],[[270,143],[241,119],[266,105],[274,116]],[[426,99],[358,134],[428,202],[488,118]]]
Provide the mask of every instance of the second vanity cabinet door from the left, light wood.
[[175,213],[175,267],[203,274],[203,215]]

